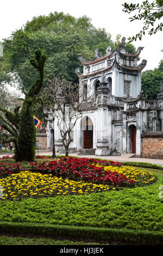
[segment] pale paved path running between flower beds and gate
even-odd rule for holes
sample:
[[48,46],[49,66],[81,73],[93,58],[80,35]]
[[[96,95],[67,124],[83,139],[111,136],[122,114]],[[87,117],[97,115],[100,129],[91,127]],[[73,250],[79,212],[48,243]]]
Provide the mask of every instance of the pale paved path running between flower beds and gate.
[[[13,153],[6,153],[6,154],[0,154],[0,157],[2,156],[12,156]],[[38,155],[38,152],[36,151],[36,155]],[[39,150],[39,155],[51,155],[52,156],[52,150]],[[58,154],[56,155],[65,155],[65,154]],[[70,156],[78,156],[77,153],[71,153]],[[163,159],[147,159],[147,158],[141,158],[141,157],[131,157],[133,154],[123,154],[122,156],[95,156],[95,155],[80,155],[80,157],[90,157],[90,158],[100,158],[100,159],[107,159],[107,160],[114,160],[114,161],[120,161],[120,162],[146,162],[146,163],[155,163],[163,166]]]

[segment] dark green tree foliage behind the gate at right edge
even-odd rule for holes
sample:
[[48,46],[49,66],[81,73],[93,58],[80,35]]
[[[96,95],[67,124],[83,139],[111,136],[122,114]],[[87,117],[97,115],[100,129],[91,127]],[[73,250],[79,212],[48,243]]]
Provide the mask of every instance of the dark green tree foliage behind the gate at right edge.
[[142,91],[148,95],[149,100],[156,100],[160,92],[160,84],[163,82],[163,60],[159,63],[158,68],[142,72],[141,83]]

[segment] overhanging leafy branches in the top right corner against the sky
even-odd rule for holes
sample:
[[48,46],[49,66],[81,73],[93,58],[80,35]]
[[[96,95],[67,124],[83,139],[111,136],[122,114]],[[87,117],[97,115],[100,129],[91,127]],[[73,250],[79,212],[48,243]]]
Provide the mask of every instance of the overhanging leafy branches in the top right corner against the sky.
[[134,35],[132,38],[128,38],[131,42],[139,38],[141,40],[142,35],[148,32],[149,35],[155,34],[158,31],[162,31],[163,23],[160,19],[163,16],[163,0],[154,0],[153,2],[143,1],[142,4],[124,3],[122,4],[123,11],[125,13],[132,13],[136,11],[133,17],[130,17],[130,21],[143,20],[144,26],[141,31]]

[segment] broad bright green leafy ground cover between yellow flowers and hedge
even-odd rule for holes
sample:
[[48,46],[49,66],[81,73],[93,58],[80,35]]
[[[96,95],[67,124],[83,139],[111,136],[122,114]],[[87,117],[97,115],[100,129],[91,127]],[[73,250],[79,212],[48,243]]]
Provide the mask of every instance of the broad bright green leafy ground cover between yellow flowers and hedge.
[[147,187],[84,196],[1,200],[0,221],[162,232],[161,183],[162,178]]

